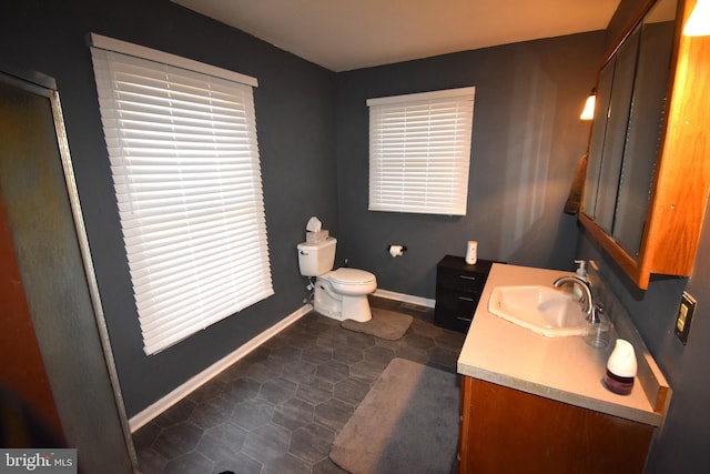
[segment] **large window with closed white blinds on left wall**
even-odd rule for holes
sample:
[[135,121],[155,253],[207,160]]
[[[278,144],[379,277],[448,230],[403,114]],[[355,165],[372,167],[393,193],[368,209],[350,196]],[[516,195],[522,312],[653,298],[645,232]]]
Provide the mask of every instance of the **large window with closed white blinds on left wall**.
[[92,36],[103,132],[144,351],[274,293],[256,80]]

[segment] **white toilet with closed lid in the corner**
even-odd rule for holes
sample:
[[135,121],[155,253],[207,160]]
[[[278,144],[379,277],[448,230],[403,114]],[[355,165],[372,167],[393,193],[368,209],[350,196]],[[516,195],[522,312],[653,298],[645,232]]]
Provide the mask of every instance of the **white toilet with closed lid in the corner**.
[[316,278],[313,309],[339,321],[369,321],[372,312],[367,295],[377,289],[377,280],[364,270],[333,270],[336,243],[335,238],[327,238],[321,242],[296,245],[301,274]]

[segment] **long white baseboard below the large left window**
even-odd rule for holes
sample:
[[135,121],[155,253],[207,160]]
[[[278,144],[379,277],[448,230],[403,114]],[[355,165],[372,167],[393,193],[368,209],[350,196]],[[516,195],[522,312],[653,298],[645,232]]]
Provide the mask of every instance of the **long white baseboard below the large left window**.
[[170,409],[175,403],[180,402],[182,399],[184,399],[190,393],[192,393],[193,391],[202,386],[204,383],[212,380],[220,372],[222,372],[230,365],[234,364],[240,359],[244,357],[246,354],[248,354],[250,352],[258,347],[261,344],[263,344],[274,335],[278,334],[281,331],[286,329],[291,324],[298,321],[301,317],[306,315],[312,310],[313,310],[313,306],[311,304],[306,304],[300,307],[298,310],[294,311],[293,313],[291,313],[290,315],[287,315],[286,317],[284,317],[283,320],[274,324],[273,326],[268,327],[266,331],[258,334],[256,337],[250,340],[247,343],[240,346],[236,351],[232,352],[231,354],[226,355],[222,360],[210,365],[207,369],[200,372],[197,375],[193,376],[192,379],[187,380],[185,383],[183,383],[182,385],[180,385],[179,387],[170,392],[168,395],[160,399],[158,402],[153,403],[142,412],[132,416],[129,420],[129,426],[131,428],[131,433],[135,433],[138,430],[143,427],[155,416],[160,415],[165,410]]

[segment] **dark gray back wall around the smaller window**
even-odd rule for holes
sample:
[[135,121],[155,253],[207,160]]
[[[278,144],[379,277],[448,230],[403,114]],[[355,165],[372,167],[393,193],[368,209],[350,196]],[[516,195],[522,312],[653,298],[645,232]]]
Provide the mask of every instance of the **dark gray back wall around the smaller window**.
[[[378,288],[434,297],[436,263],[464,255],[574,269],[576,218],[562,213],[589,122],[579,113],[596,80],[605,33],[487,48],[338,74],[341,263]],[[476,87],[468,212],[437,216],[367,211],[368,98]],[[405,244],[393,259],[388,244]]]

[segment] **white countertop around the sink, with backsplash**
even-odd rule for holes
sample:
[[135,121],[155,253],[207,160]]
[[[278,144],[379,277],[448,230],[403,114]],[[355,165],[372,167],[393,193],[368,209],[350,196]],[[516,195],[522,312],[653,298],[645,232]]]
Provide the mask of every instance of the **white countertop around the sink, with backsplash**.
[[[599,350],[580,336],[546,337],[488,312],[488,297],[495,286],[551,285],[557,278],[569,274],[494,264],[458,359],[458,373],[576,406],[660,425],[666,410],[667,383],[638,333],[627,331],[630,323],[620,322],[617,326],[623,339],[635,346],[639,374],[632,392],[618,395],[604,384],[613,335],[609,346]],[[649,381],[649,376],[653,380]],[[662,396],[658,393],[659,385]]]

